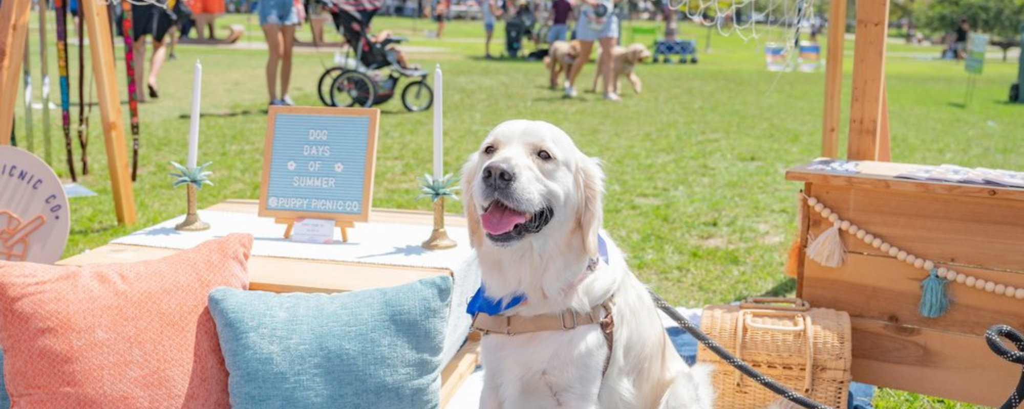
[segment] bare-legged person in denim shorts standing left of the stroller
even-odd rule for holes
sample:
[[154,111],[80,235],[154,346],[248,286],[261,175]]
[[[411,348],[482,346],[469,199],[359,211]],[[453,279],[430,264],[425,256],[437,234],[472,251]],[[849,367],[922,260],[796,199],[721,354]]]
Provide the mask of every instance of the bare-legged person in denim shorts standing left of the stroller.
[[[266,90],[270,105],[294,105],[288,96],[292,79],[292,47],[295,28],[301,24],[299,8],[293,0],[260,0],[259,24],[270,55],[266,60]],[[281,66],[281,93],[278,93],[278,67]],[[281,96],[280,98],[278,96]]]

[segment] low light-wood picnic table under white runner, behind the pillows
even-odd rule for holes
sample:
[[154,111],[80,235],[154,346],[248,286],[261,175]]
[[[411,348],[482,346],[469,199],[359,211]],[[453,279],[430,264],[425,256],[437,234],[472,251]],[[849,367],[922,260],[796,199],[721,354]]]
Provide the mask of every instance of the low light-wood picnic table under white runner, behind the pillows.
[[[256,200],[228,199],[207,210],[256,214]],[[460,215],[445,215],[449,226],[465,226]],[[378,210],[370,213],[370,222],[432,225],[427,212]],[[425,230],[426,231],[426,230]],[[179,251],[127,244],[106,244],[87,253],[57,262],[58,265],[82,266],[97,263],[126,263],[159,259]],[[378,288],[414,282],[426,277],[452,275],[447,269],[382,266],[359,263],[282,259],[252,256],[249,258],[249,288],[273,292],[343,292]],[[441,407],[455,396],[462,382],[479,362],[479,338],[469,342],[441,371]]]

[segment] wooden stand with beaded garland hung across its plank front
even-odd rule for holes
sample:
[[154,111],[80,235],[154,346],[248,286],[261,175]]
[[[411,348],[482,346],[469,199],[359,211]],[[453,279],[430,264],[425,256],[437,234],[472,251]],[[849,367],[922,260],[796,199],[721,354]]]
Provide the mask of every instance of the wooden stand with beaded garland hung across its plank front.
[[[1024,190],[896,179],[915,166],[864,162],[839,175],[786,172],[843,220],[908,253],[985,280],[1024,287]],[[830,224],[802,210],[798,296],[850,313],[854,380],[988,406],[1017,384],[1020,366],[993,355],[985,329],[1024,328],[1024,301],[951,283],[949,311],[918,313],[926,272],[842,233],[839,268],[807,260],[807,234]]]

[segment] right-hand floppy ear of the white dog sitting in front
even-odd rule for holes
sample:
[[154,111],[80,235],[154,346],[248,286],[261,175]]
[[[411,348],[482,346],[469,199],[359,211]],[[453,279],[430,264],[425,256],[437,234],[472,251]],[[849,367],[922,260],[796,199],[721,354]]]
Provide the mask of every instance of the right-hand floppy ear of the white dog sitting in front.
[[580,195],[577,218],[580,221],[584,248],[590,257],[598,257],[597,233],[601,230],[604,219],[601,204],[601,197],[604,195],[604,172],[601,171],[601,162],[581,153],[577,164],[575,185]]

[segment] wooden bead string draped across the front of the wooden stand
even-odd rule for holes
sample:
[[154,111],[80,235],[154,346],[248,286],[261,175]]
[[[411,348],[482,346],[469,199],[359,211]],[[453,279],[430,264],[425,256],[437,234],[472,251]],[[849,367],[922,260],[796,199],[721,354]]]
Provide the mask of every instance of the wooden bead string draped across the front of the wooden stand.
[[830,224],[836,226],[838,229],[850,233],[851,235],[863,240],[864,243],[870,245],[873,248],[878,248],[883,254],[888,254],[890,257],[895,258],[901,262],[913,266],[914,268],[923,269],[925,271],[935,271],[935,276],[941,279],[945,279],[949,282],[956,282],[958,284],[964,284],[969,287],[974,287],[979,290],[986,292],[992,292],[1000,294],[1004,297],[1024,300],[1024,288],[1017,288],[1011,285],[1000,284],[993,281],[980,279],[965,273],[956,272],[946,267],[939,267],[932,260],[919,258],[906,251],[900,249],[899,247],[886,242],[881,237],[874,236],[868,233],[861,227],[853,224],[848,220],[843,220],[840,218],[839,214],[828,209],[818,200],[816,197],[804,196],[807,201],[807,206],[814,209],[815,212],[819,213],[822,218],[827,220]]

